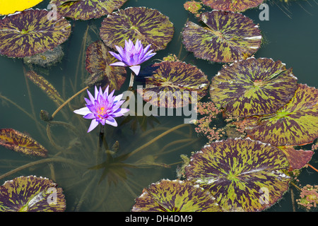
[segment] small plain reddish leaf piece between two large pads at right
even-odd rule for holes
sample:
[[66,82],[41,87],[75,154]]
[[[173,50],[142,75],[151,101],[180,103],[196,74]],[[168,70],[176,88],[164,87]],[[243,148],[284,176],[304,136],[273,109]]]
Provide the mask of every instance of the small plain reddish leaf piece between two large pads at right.
[[312,150],[295,150],[293,146],[279,146],[290,163],[290,170],[301,169],[312,159]]

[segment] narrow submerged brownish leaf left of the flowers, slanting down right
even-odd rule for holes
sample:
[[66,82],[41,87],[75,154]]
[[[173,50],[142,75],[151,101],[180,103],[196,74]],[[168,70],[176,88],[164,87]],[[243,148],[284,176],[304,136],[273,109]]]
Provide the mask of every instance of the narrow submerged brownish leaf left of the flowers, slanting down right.
[[27,76],[30,81],[33,81],[35,85],[41,88],[47,96],[57,103],[57,105],[61,105],[64,100],[62,99],[61,95],[59,95],[59,92],[54,88],[49,81],[47,81],[44,77],[37,75],[35,71],[28,71],[25,73],[25,76]]

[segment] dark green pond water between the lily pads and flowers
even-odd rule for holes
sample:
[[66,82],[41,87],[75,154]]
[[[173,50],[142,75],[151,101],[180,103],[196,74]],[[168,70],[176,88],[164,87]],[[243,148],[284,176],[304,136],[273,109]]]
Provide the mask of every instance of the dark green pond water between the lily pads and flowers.
[[[161,51],[145,64],[162,60],[167,54],[175,54],[179,59],[194,64],[208,76],[209,81],[222,68],[223,64],[196,59],[192,53],[182,46],[180,32],[187,20],[196,23],[196,18],[184,10],[183,0],[129,0],[122,8],[130,6],[146,6],[155,8],[165,16],[175,27],[175,34],[167,48]],[[49,1],[43,1],[35,8],[47,8]],[[293,68],[298,83],[318,87],[318,2],[291,1],[285,4],[281,1],[271,1],[269,4],[269,20],[260,20],[259,8],[245,11],[245,16],[259,23],[264,43],[254,55],[281,60],[286,68]],[[88,28],[88,36],[84,47],[96,40],[102,18],[89,21],[71,21],[72,33],[64,47],[64,58],[49,70],[43,70],[44,76],[62,97],[66,100],[74,93],[85,87],[83,81],[89,75],[85,69],[85,51],[83,52],[83,37]],[[24,68],[23,68],[24,67]],[[183,124],[184,117],[155,117],[148,119],[146,130],[137,126],[136,131],[131,127],[131,121],[121,126],[105,126],[105,139],[111,147],[119,142],[119,150],[114,157],[134,152],[123,162],[134,167],[124,169],[113,167],[110,174],[100,181],[103,169],[88,169],[107,160],[105,149],[99,150],[99,130],[86,133],[90,120],[81,119],[73,114],[73,109],[84,107],[83,97],[79,95],[66,105],[54,118],[75,126],[80,135],[76,135],[65,126],[51,126],[54,142],[47,137],[47,124],[40,119],[40,110],[50,114],[57,109],[57,105],[45,95],[34,83],[26,79],[21,59],[11,59],[0,56],[0,128],[13,128],[28,133],[49,151],[49,157],[62,157],[62,162],[47,162],[21,169],[18,172],[1,179],[3,184],[8,179],[21,175],[36,175],[47,177],[63,188],[66,197],[66,211],[129,211],[134,205],[134,199],[139,196],[143,188],[160,179],[176,179],[176,169],[181,165],[180,155],[190,156],[192,152],[200,150],[206,143],[198,137],[193,124]],[[129,71],[129,70],[127,70]],[[129,72],[130,73],[130,72]],[[129,77],[127,73],[127,77]],[[128,88],[129,79],[122,86]],[[138,81],[134,84],[138,85]],[[93,91],[93,89],[92,89]],[[117,92],[119,94],[119,92]],[[9,100],[8,100],[8,99]],[[14,104],[13,104],[14,102]],[[17,107],[18,106],[18,107]],[[22,110],[24,109],[24,111]],[[151,126],[151,121],[153,126]],[[120,124],[123,119],[117,119]],[[175,127],[176,126],[176,127]],[[175,130],[173,130],[175,128]],[[166,136],[165,131],[172,129]],[[158,137],[160,136],[160,137]],[[146,145],[145,145],[146,144]],[[57,145],[57,146],[56,146]],[[144,145],[144,147],[142,146]],[[0,146],[0,175],[11,169],[20,167],[28,162],[40,160],[37,157],[20,155],[12,150]],[[318,167],[317,156],[310,162]],[[300,174],[301,184],[318,184],[318,173],[306,168]],[[299,194],[293,189],[295,198]],[[302,211],[295,204],[295,210]],[[290,191],[283,199],[267,211],[293,211]]]

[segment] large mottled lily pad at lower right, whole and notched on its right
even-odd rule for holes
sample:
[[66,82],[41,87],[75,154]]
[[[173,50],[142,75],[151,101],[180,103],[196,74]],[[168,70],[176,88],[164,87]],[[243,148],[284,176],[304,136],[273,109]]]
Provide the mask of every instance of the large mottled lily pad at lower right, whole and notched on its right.
[[278,148],[250,139],[216,141],[192,155],[188,180],[200,184],[223,210],[259,211],[288,189],[289,162]]

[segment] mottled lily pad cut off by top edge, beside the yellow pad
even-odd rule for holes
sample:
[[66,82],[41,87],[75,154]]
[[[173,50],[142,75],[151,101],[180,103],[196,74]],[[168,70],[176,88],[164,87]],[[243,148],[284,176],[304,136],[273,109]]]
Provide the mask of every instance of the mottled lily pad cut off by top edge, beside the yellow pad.
[[127,0],[52,0],[61,15],[73,20],[100,18],[122,7]]

